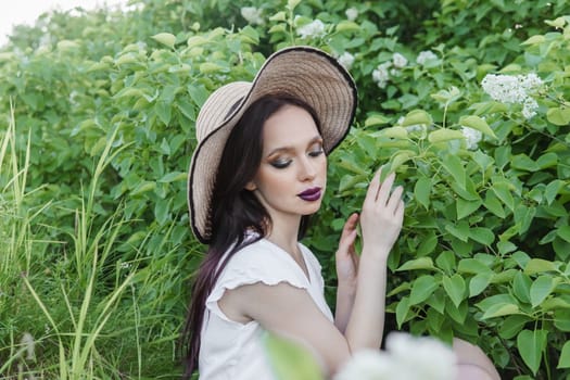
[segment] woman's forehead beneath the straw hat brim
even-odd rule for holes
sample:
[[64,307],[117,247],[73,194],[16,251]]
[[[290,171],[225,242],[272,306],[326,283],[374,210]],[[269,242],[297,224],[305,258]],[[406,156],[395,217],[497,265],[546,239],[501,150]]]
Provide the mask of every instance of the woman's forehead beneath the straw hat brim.
[[263,126],[264,151],[305,145],[320,136],[311,114],[296,105],[284,105]]

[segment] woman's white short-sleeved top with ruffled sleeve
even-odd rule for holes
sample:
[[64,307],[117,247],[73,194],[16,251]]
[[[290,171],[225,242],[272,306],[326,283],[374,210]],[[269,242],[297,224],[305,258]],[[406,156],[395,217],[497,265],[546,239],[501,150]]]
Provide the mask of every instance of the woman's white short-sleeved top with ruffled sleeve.
[[325,301],[320,265],[306,246],[301,243],[299,246],[308,278],[289,253],[267,239],[243,248],[230,258],[206,300],[199,359],[201,380],[275,379],[261,342],[262,326],[255,320],[233,321],[219,308],[218,301],[226,289],[256,282],[268,286],[288,282],[306,289],[322,314],[333,320]]

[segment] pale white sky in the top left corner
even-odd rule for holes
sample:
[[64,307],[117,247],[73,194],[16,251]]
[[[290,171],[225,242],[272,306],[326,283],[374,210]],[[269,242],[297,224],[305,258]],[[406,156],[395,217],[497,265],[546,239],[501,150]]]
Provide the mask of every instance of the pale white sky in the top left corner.
[[50,10],[75,7],[93,9],[99,5],[126,4],[127,0],[0,0],[0,46],[8,41],[13,25],[34,25],[36,18]]

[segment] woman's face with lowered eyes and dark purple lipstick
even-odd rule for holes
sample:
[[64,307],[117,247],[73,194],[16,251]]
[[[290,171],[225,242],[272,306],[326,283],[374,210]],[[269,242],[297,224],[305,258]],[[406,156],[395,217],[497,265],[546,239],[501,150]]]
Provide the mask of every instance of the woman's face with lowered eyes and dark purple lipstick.
[[326,186],[327,156],[315,121],[304,109],[284,105],[264,124],[262,162],[246,189],[275,223],[317,212]]

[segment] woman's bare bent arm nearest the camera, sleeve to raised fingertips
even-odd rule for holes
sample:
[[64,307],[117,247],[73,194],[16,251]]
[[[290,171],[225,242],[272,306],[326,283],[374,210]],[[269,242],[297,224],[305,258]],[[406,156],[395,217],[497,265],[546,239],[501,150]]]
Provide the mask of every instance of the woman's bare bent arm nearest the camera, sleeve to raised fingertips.
[[[377,174],[368,188],[360,215],[363,253],[354,305],[352,311],[347,307],[350,302],[341,305],[343,312],[349,311],[343,317],[344,333],[327,319],[305,289],[287,282],[276,286],[257,282],[228,290],[219,301],[224,313],[235,320],[256,320],[270,331],[305,341],[321,359],[326,375],[334,373],[352,352],[379,349],[384,320],[385,263],[404,213],[402,189],[392,192],[393,181],[391,175],[380,183]],[[344,295],[349,300],[349,293]]]

